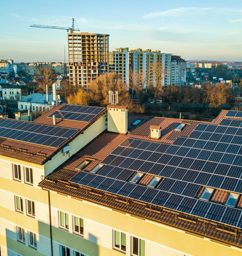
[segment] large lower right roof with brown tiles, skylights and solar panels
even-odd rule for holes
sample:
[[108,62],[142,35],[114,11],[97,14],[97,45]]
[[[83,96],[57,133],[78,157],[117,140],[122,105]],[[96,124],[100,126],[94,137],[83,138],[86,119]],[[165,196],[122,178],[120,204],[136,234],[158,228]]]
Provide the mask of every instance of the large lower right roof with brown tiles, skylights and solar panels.
[[[132,121],[130,133],[103,133],[39,185],[241,247],[242,113]],[[150,139],[156,126],[162,137]]]

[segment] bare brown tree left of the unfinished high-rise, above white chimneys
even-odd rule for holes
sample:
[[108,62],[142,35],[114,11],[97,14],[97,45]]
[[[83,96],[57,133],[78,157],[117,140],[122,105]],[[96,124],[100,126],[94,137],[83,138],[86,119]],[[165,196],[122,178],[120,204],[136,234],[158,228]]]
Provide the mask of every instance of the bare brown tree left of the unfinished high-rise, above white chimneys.
[[41,83],[39,83],[39,93],[46,93],[46,85],[50,87],[56,81],[56,74],[50,66],[41,66],[38,70]]

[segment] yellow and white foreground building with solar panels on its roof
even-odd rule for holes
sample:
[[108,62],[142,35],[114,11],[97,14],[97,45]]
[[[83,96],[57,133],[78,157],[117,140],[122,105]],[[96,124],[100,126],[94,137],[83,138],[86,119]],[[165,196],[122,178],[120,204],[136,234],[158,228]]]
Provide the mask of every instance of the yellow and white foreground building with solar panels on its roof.
[[61,104],[0,127],[1,255],[241,255],[241,112]]

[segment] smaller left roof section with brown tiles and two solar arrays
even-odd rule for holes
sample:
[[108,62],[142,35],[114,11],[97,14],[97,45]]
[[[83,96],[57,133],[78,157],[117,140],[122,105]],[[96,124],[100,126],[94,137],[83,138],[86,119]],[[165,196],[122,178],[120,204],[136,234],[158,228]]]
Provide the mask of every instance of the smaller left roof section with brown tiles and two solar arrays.
[[105,108],[60,104],[33,122],[1,118],[0,154],[43,164],[104,113]]

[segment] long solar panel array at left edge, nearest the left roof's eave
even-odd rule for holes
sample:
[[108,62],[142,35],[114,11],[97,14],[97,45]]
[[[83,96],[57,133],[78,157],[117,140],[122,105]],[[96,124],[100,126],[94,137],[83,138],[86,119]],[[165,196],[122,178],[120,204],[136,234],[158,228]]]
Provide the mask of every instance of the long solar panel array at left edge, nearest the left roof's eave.
[[58,146],[77,133],[77,131],[77,129],[41,125],[39,123],[13,119],[0,120],[0,137],[53,148],[58,148]]

